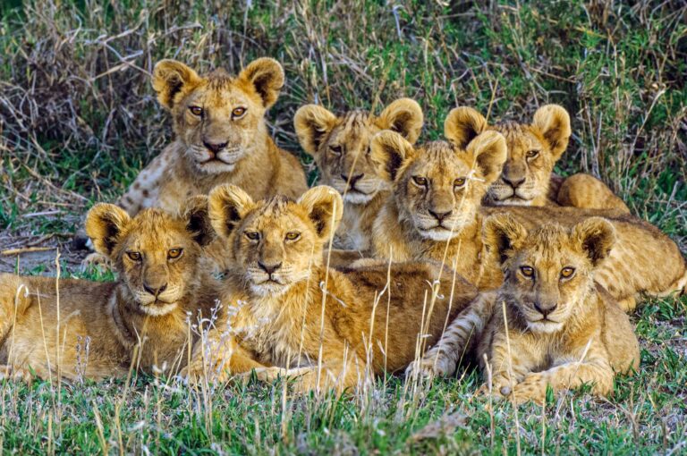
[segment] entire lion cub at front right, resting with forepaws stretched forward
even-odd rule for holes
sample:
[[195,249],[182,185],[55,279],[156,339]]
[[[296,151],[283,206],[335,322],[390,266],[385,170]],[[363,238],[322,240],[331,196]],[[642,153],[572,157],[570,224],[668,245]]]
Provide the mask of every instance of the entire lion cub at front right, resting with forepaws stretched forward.
[[483,237],[504,284],[463,311],[415,371],[451,375],[473,334],[485,380],[489,371],[492,377],[479,393],[491,387],[516,402],[545,401],[547,386],[560,392],[592,384],[607,395],[616,373],[639,367],[629,318],[594,282],[615,243],[612,224],[594,217],[571,229],[545,224],[528,232],[511,215],[493,215]]

